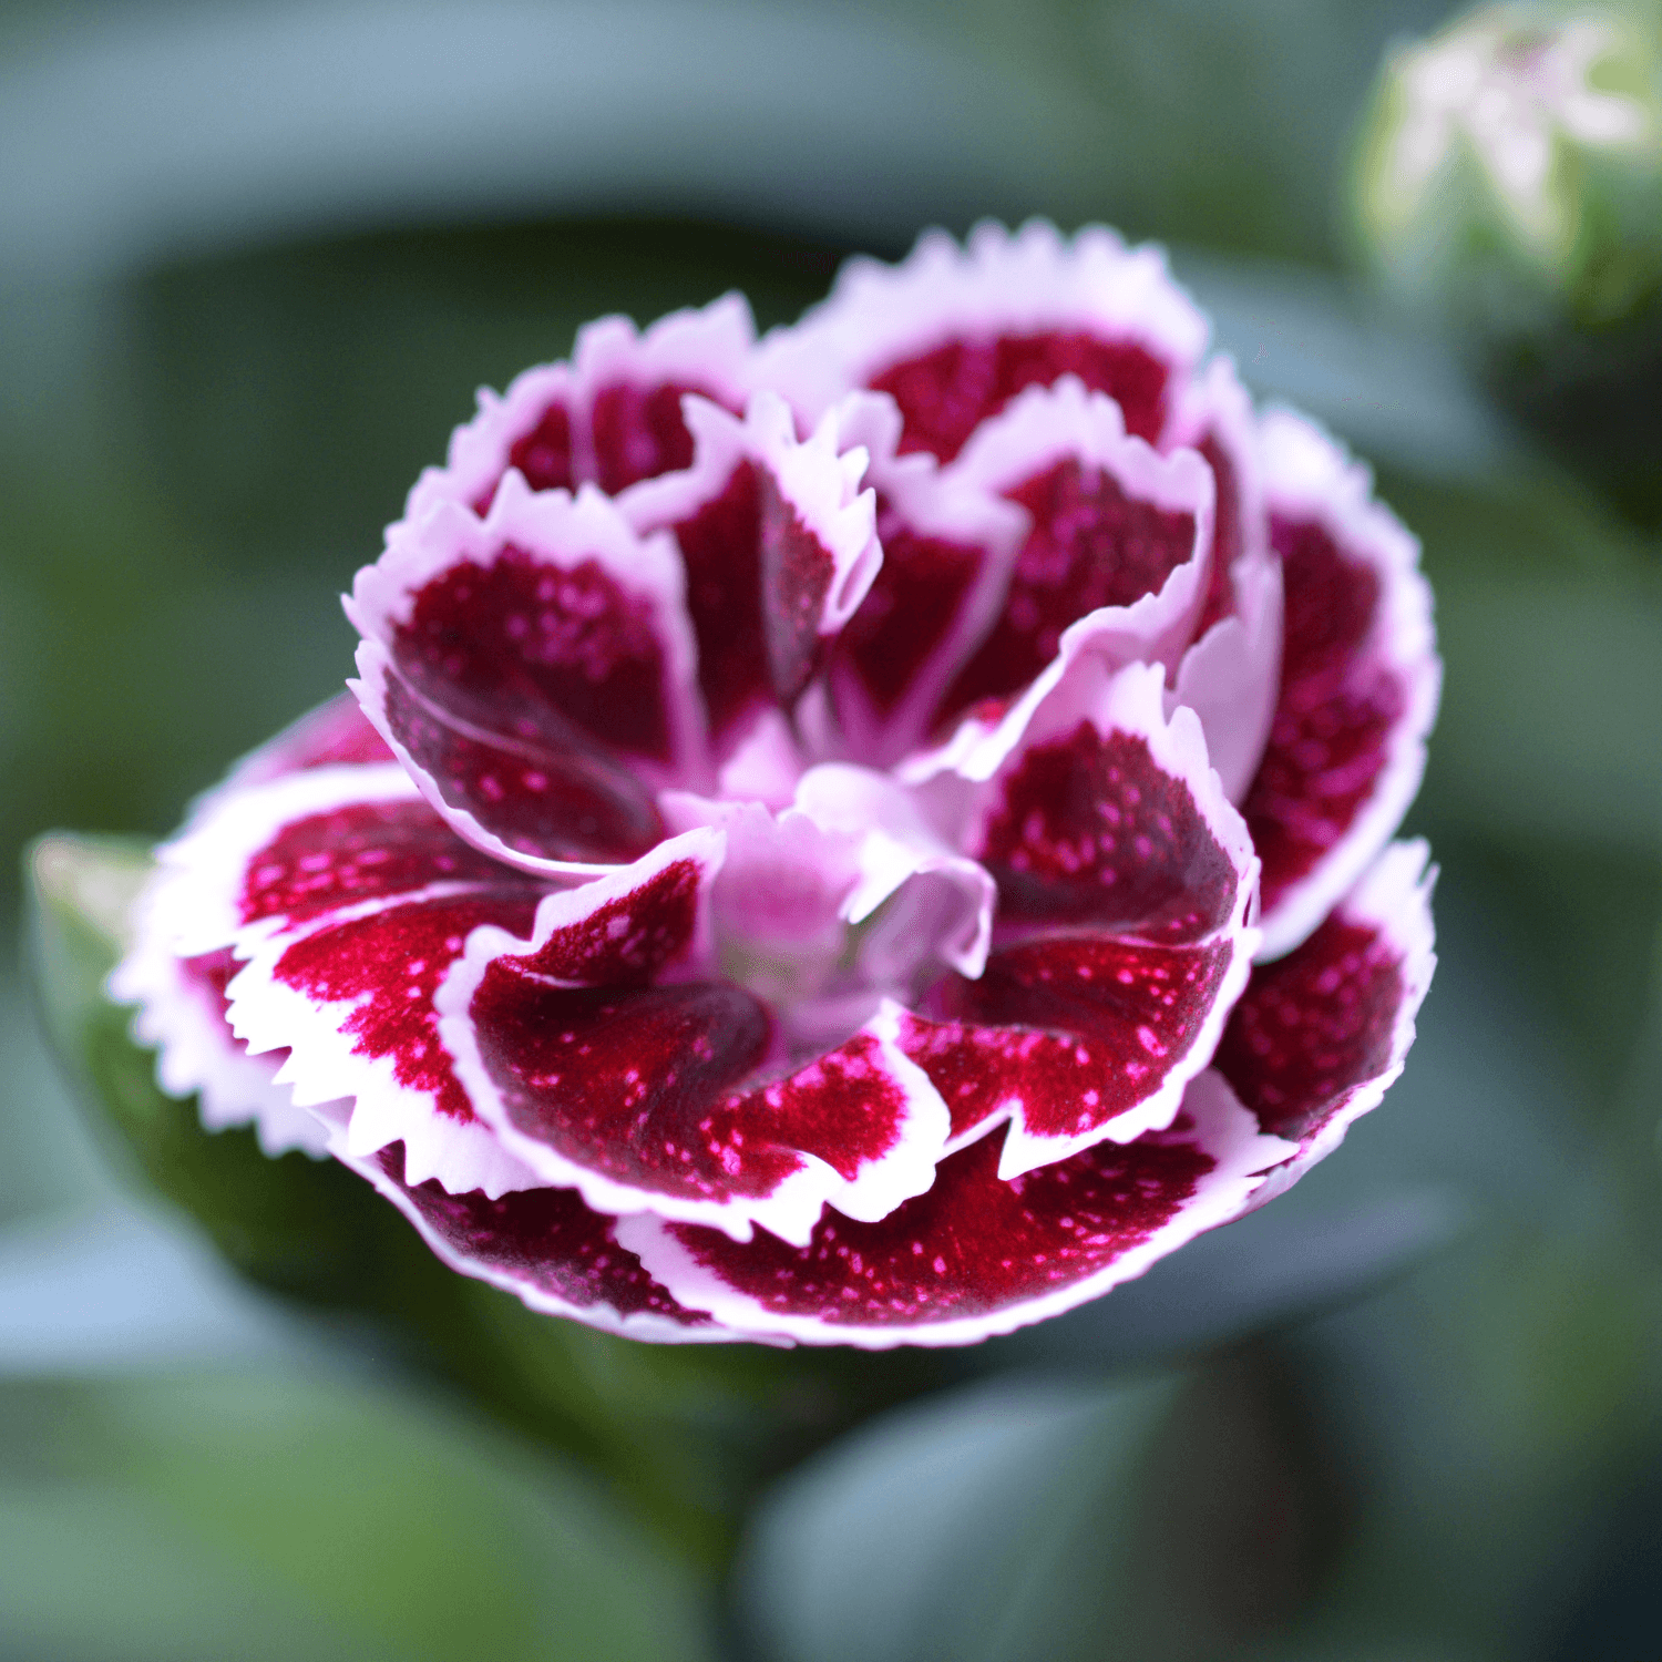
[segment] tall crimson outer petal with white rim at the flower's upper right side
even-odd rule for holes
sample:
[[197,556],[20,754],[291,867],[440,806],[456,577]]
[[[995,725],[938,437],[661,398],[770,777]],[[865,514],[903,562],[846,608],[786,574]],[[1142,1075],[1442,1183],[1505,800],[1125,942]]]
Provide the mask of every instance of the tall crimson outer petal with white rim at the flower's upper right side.
[[1263,422],[1281,555],[1281,690],[1243,811],[1263,856],[1265,959],[1298,946],[1419,789],[1443,666],[1419,545],[1371,475],[1285,411]]

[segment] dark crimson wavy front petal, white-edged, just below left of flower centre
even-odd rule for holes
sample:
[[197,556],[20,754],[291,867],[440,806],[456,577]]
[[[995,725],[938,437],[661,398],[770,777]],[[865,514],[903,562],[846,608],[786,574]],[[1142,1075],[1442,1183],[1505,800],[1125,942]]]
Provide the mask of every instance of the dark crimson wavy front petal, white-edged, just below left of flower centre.
[[[881,1004],[844,1044],[765,1079],[773,1012],[698,946],[721,833],[548,896],[529,939],[482,929],[439,994],[475,1112],[545,1183],[804,1240],[824,1202],[883,1217],[929,1187],[947,1114]],[[703,851],[688,854],[685,849]],[[645,942],[633,957],[617,957]]]

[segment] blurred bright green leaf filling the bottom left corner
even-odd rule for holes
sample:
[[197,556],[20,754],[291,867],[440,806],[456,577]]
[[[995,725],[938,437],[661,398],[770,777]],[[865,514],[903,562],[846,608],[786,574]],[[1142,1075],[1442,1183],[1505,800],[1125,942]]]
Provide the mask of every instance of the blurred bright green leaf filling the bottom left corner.
[[5,1386],[0,1426],[12,1657],[711,1655],[700,1584],[580,1473],[391,1391]]

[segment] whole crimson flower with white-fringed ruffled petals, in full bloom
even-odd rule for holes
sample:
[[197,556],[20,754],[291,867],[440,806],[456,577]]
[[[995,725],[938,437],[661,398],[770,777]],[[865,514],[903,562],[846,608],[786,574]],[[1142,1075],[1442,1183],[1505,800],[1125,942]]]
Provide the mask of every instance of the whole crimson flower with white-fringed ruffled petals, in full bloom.
[[356,703],[161,851],[163,1085],[650,1340],[972,1341],[1285,1188],[1413,1039],[1439,668],[1205,339],[1157,251],[981,226],[484,394]]

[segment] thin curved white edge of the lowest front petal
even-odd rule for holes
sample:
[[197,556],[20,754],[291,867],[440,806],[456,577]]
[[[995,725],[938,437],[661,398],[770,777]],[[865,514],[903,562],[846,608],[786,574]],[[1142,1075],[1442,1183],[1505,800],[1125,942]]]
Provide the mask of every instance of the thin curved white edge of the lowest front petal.
[[1094,1275],[976,1316],[917,1321],[911,1326],[858,1326],[828,1321],[818,1313],[781,1315],[721,1280],[661,1218],[648,1215],[623,1218],[617,1235],[618,1242],[640,1258],[648,1275],[670,1290],[676,1303],[688,1310],[708,1311],[723,1326],[736,1331],[778,1333],[803,1345],[854,1345],[863,1350],[894,1350],[901,1345],[976,1345],[1100,1298],[1124,1281],[1143,1275],[1160,1258],[1185,1246],[1197,1235],[1240,1217],[1255,1190],[1263,1185],[1265,1168],[1286,1158],[1291,1148],[1280,1137],[1265,1137],[1256,1120],[1228,1090],[1215,1089],[1210,1074],[1203,1074],[1190,1085],[1183,1105],[1195,1122],[1193,1142],[1215,1165],[1200,1178],[1195,1193],[1177,1213],[1147,1240],[1120,1253]]

